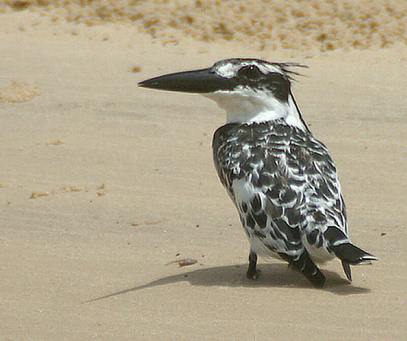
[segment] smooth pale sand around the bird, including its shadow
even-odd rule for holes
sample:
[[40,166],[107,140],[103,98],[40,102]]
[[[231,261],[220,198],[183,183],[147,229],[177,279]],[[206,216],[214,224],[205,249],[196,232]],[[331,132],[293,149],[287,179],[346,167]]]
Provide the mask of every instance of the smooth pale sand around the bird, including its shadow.
[[[163,44],[131,23],[0,25],[0,339],[407,337],[407,49],[316,53]],[[245,278],[248,243],[212,165],[225,117],[137,81],[231,56],[305,63],[294,94],[339,169],[353,241],[311,288],[284,263]],[[309,56],[308,56],[309,57]],[[188,267],[168,262],[192,258]]]

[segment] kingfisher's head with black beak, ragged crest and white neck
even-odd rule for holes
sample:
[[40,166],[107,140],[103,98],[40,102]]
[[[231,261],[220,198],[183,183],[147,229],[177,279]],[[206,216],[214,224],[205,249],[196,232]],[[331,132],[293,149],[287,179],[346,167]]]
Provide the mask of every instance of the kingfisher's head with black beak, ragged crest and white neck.
[[138,83],[144,88],[196,93],[214,100],[226,111],[228,123],[259,123],[285,119],[306,130],[291,93],[297,63],[269,63],[234,58],[207,69],[183,71]]

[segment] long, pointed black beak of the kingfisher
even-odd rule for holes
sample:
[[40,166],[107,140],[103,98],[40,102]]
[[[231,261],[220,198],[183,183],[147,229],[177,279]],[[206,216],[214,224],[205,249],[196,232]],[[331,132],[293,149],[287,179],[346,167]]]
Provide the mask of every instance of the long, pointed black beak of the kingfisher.
[[236,84],[232,78],[221,77],[209,68],[150,78],[139,82],[138,86],[158,90],[206,94],[218,90],[233,89]]

